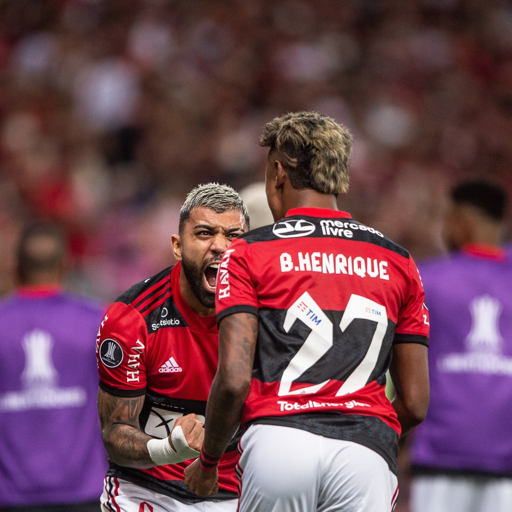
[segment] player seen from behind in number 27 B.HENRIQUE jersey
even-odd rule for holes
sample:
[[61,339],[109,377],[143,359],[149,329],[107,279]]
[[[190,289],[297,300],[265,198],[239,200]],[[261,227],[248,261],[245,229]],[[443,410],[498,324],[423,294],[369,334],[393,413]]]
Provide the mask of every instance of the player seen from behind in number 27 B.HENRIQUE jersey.
[[343,126],[287,114],[261,144],[276,222],[223,255],[219,367],[185,484],[215,493],[218,460],[242,422],[241,512],[392,510],[398,438],[428,407],[418,270],[405,249],[338,211],[351,147]]

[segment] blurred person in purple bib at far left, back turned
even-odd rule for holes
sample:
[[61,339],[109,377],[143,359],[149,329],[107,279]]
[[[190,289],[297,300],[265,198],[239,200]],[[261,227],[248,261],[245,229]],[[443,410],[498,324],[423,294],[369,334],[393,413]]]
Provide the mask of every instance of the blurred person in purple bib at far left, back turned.
[[22,233],[15,292],[0,304],[0,510],[97,512],[107,458],[91,340],[104,309],[62,289],[53,224]]

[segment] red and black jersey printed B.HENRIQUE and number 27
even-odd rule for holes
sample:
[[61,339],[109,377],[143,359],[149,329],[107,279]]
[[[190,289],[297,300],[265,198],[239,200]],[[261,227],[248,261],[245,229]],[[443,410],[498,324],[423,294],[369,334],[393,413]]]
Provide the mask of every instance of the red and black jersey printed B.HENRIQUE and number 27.
[[428,311],[409,253],[382,233],[321,208],[294,208],[223,255],[217,321],[259,317],[242,415],[355,441],[397,472],[400,424],[385,395],[391,348],[428,346]]

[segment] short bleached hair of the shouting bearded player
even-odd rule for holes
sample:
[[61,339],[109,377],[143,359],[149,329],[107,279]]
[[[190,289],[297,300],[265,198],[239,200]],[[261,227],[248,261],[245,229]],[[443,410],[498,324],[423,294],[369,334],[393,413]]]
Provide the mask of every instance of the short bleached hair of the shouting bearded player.
[[228,210],[240,211],[245,218],[247,229],[249,229],[249,212],[239,193],[229,185],[206,183],[196,186],[188,193],[180,209],[180,233],[182,232],[183,225],[190,217],[190,211],[200,206],[210,208],[210,210],[218,214],[223,214]]

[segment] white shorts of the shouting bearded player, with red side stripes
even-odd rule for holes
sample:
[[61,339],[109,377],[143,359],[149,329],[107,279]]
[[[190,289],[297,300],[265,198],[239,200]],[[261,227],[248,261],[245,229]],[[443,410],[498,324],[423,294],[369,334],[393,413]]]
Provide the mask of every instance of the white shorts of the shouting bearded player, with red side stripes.
[[236,512],[238,500],[182,503],[152,490],[106,477],[100,498],[102,512]]

